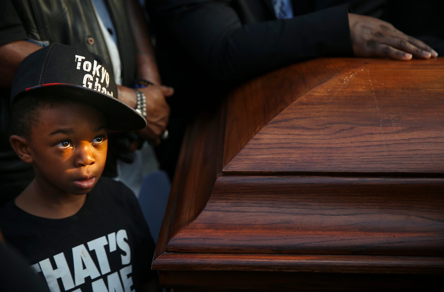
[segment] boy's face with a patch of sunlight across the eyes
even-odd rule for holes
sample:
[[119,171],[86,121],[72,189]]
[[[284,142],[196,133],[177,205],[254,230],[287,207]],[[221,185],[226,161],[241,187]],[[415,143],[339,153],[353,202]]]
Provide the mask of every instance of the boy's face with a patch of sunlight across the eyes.
[[103,114],[81,103],[42,107],[28,141],[39,184],[48,191],[90,192],[105,167],[106,125]]

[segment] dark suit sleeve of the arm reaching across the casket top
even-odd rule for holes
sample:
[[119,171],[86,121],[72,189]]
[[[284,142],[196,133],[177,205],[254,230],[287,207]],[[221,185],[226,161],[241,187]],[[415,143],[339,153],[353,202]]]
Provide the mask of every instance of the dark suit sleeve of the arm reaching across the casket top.
[[310,57],[352,54],[347,5],[243,25],[231,1],[166,2],[193,2],[164,5],[157,12],[179,47],[222,81]]

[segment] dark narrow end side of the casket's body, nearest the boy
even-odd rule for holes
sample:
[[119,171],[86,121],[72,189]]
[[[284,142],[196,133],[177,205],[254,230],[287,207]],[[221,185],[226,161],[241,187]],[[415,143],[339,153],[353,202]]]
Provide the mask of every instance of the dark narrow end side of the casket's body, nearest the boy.
[[226,104],[209,108],[188,128],[165,210],[155,258],[205,207],[222,169]]

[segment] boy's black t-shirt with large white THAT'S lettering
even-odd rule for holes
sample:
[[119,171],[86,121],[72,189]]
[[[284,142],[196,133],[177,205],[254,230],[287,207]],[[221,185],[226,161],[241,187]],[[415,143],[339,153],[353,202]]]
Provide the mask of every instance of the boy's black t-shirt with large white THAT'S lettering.
[[135,195],[101,178],[75,215],[48,219],[10,201],[0,212],[5,241],[18,249],[54,291],[141,291],[154,242]]

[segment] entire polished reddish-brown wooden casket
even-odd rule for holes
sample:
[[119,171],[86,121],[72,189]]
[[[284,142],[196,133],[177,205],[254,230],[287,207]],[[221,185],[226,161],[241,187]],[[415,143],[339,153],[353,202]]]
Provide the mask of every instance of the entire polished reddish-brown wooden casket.
[[438,283],[443,106],[444,59],[316,59],[238,87],[186,135],[153,261],[160,283]]

